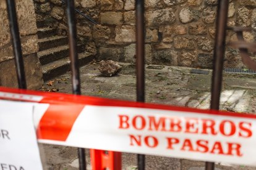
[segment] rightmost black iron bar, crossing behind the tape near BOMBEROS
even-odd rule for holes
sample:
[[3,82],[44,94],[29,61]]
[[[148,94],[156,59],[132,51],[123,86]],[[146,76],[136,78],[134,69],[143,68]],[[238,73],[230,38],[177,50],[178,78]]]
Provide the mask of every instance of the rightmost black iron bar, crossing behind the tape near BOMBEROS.
[[[221,83],[223,78],[223,63],[226,41],[226,28],[228,21],[229,0],[218,0],[218,13],[216,20],[215,49],[213,53],[213,76],[211,81],[211,109],[219,110]],[[214,163],[207,162],[206,170],[213,170]]]

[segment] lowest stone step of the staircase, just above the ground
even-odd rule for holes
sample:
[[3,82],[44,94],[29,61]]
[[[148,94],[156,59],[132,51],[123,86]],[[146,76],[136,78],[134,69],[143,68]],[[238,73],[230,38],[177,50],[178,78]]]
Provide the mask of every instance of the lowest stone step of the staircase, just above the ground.
[[[86,65],[95,59],[93,54],[79,54],[79,67]],[[56,60],[55,62],[48,63],[42,66],[43,69],[43,80],[47,81],[53,79],[56,76],[62,75],[67,71],[70,71],[70,60],[69,57],[65,57],[61,60]]]

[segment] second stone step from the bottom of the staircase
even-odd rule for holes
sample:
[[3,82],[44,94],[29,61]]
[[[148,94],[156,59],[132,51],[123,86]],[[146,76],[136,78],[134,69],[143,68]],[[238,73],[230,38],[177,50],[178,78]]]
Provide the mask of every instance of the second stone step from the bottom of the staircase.
[[[77,46],[77,52],[82,52],[82,46]],[[56,60],[63,59],[69,56],[69,46],[59,46],[51,49],[47,49],[45,51],[40,51],[37,53],[38,58],[40,60],[41,65],[46,65],[47,63],[55,62]]]

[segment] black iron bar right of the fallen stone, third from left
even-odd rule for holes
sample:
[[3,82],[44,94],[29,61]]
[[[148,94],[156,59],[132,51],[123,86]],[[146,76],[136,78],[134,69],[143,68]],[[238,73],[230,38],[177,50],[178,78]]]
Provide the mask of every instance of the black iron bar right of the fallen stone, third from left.
[[[137,102],[145,102],[144,0],[136,0]],[[145,155],[137,155],[138,169],[145,169]]]

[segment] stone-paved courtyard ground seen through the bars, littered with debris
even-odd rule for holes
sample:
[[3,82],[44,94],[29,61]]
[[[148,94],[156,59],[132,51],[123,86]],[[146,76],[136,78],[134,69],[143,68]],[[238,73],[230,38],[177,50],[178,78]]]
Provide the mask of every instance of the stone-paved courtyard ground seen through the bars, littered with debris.
[[[121,63],[122,71],[113,77],[102,76],[98,63],[80,68],[82,95],[111,99],[135,100],[135,65]],[[210,107],[211,70],[207,75],[190,73],[192,68],[146,65],[146,102],[207,109]],[[224,73],[221,110],[256,112],[256,75]],[[44,84],[42,91],[72,93],[70,73]],[[78,169],[77,149],[40,144],[45,169]],[[146,169],[201,170],[200,161],[146,156]],[[134,154],[122,154],[122,169],[137,169]],[[91,169],[87,150],[87,169]],[[256,169],[247,166],[216,163],[216,169]]]

